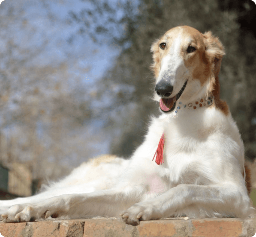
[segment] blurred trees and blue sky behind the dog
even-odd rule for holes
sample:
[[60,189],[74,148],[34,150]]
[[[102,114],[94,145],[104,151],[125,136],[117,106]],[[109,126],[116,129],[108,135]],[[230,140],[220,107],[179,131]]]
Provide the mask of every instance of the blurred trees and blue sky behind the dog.
[[0,191],[27,196],[94,156],[128,158],[158,113],[151,44],[179,25],[223,42],[221,97],[255,167],[255,22],[251,0],[3,1]]

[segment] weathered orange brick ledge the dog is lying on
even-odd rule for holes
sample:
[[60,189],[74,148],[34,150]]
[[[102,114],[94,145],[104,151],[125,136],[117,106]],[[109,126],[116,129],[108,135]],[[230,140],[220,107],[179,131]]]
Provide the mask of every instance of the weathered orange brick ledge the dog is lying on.
[[126,225],[120,218],[53,220],[6,224],[4,237],[252,237],[256,217],[250,219],[168,218]]

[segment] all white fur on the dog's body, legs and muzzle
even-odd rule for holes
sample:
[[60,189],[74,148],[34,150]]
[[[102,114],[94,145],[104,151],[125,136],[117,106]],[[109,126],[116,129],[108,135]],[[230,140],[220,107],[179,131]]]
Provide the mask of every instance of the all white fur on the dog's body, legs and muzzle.
[[[208,85],[191,78],[179,54],[180,40],[177,35],[162,59],[157,81],[165,71],[172,74],[175,95],[189,79],[178,100],[186,103],[207,94]],[[152,158],[163,132],[164,163],[159,166]],[[216,106],[173,111],[152,119],[130,160],[84,163],[42,193],[0,201],[0,214],[4,222],[121,214],[128,224],[182,215],[247,217],[255,210],[243,169],[244,145],[230,114]]]

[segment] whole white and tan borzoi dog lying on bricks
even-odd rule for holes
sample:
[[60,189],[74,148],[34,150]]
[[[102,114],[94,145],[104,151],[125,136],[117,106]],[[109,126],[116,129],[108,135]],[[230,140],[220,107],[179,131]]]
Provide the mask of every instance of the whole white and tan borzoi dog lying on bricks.
[[220,100],[223,45],[211,32],[178,26],[151,51],[154,99],[162,113],[152,118],[131,159],[92,160],[42,193],[0,201],[4,222],[120,215],[136,225],[165,217],[255,213],[244,145]]

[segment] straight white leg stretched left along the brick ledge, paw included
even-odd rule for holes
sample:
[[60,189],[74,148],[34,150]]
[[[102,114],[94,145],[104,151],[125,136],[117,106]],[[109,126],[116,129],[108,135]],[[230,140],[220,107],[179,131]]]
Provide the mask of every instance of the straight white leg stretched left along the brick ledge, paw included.
[[3,222],[28,222],[36,219],[74,219],[88,216],[119,216],[139,202],[137,189],[129,193],[115,190],[100,190],[87,194],[63,194],[33,204],[14,205],[2,215]]

